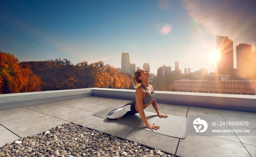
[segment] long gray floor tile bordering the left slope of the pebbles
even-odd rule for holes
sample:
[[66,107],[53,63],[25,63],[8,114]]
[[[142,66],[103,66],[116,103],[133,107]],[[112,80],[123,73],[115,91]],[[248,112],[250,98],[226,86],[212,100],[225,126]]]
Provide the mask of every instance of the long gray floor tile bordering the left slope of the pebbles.
[[28,125],[15,127],[10,130],[15,134],[19,135],[20,137],[27,137],[27,136],[33,136],[39,133],[43,133],[44,131],[52,129],[52,127],[56,127],[64,123],[68,123],[68,122],[58,118],[50,118],[50,119],[45,119],[39,122],[31,123]]

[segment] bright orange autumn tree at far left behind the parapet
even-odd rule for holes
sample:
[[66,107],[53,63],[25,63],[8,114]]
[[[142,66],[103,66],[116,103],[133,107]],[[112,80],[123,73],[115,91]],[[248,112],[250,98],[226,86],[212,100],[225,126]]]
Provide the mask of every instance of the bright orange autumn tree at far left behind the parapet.
[[40,78],[18,62],[14,55],[0,52],[0,94],[40,91]]

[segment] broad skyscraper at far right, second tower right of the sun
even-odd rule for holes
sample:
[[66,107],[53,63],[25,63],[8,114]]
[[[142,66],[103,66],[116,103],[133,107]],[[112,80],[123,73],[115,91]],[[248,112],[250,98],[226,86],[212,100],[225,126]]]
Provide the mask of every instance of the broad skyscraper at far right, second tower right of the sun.
[[236,46],[237,50],[237,70],[246,71],[253,64],[252,45],[240,43]]

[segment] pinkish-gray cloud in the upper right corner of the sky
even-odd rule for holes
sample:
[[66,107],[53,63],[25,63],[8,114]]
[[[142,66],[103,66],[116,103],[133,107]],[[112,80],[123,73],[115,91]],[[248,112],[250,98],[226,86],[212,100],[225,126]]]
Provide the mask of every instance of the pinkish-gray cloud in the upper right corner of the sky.
[[233,41],[256,42],[256,1],[183,0],[188,15],[212,34]]

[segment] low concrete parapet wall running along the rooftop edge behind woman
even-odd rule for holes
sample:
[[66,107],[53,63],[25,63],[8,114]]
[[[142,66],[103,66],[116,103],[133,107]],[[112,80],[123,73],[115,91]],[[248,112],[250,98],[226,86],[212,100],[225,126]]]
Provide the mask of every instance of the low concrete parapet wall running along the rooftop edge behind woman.
[[[256,112],[255,95],[229,95],[168,91],[155,91],[155,95],[157,103]],[[70,100],[87,96],[101,96],[135,100],[135,90],[85,88],[60,91],[3,94],[0,95],[0,110]]]

